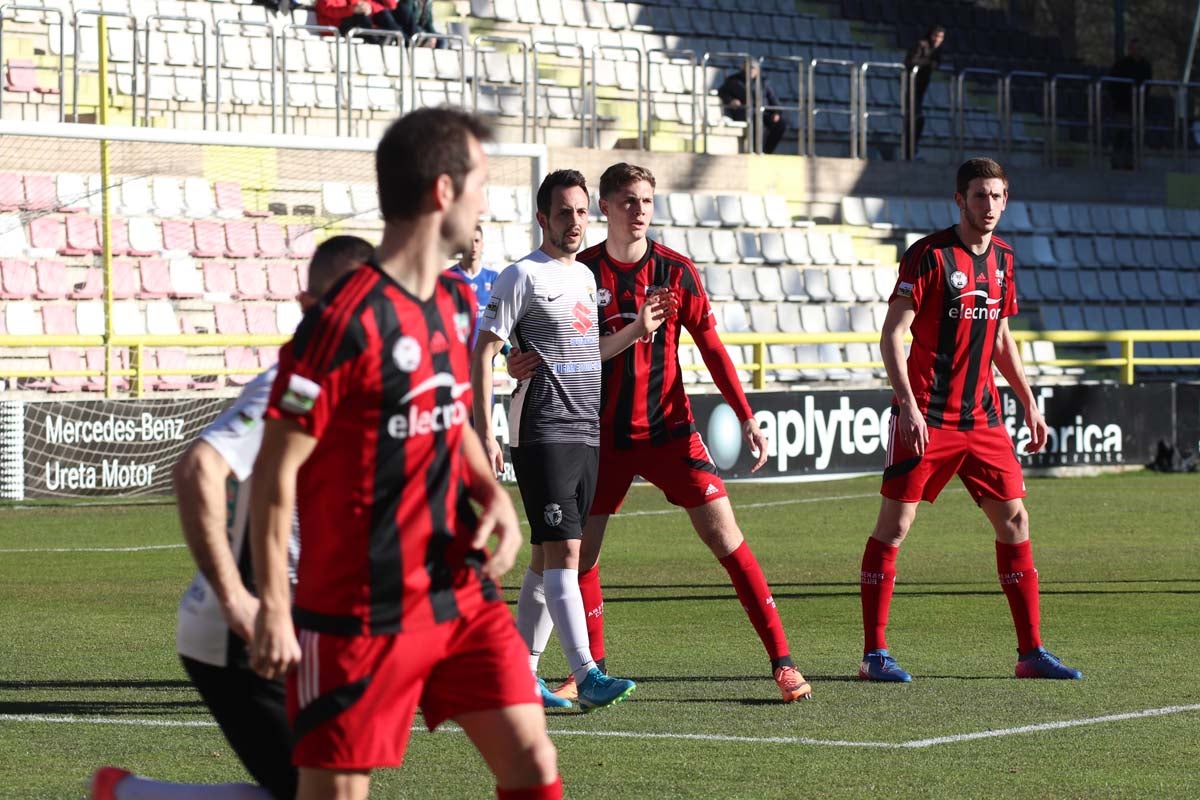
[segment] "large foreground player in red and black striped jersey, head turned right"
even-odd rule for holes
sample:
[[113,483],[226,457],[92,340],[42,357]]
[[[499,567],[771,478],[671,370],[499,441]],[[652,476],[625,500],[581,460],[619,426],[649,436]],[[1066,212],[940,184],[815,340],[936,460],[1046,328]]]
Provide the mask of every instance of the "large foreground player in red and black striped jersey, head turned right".
[[366,798],[371,770],[403,759],[418,708],[431,729],[454,720],[467,732],[502,800],[562,798],[526,648],[496,584],[521,534],[469,422],[475,301],[443,273],[486,210],[487,136],[450,108],[388,130],[376,154],[376,260],[307,313],[280,354],[252,493],[252,664],[264,678],[287,673],[299,798]]

